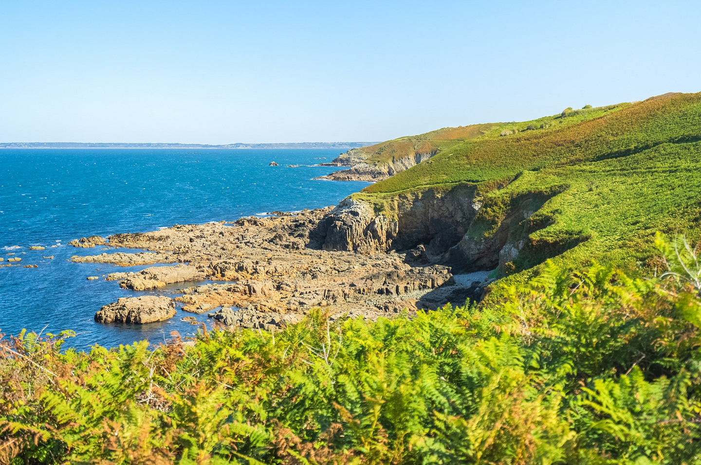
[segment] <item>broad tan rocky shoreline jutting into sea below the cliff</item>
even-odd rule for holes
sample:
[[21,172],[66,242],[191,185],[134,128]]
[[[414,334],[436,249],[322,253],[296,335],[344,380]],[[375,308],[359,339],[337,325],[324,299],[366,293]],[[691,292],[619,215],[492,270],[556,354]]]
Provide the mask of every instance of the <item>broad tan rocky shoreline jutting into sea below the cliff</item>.
[[[393,250],[387,240],[393,225],[382,217],[366,218],[367,212],[359,208],[353,202],[341,202],[336,208],[297,214],[278,212],[278,216],[240,218],[233,223],[117,234],[104,243],[144,251],[74,256],[72,260],[122,266],[179,263],[111,273],[106,279],[119,279],[121,287],[135,291],[215,280],[216,284],[182,289],[175,301],[184,305],[184,311],[200,314],[221,307],[210,317],[225,326],[282,326],[314,307],[333,317],[376,319],[404,310],[409,314],[432,310],[448,302],[463,305],[465,300],[482,296],[486,276],[456,283],[451,267],[437,263],[426,247]],[[90,237],[76,241],[76,247],[100,242]],[[122,308],[118,314],[128,314],[123,310],[125,303],[112,305]],[[231,307],[239,310],[233,312]],[[105,310],[103,307],[103,314]],[[113,321],[139,322],[133,314],[118,318],[121,320]]]

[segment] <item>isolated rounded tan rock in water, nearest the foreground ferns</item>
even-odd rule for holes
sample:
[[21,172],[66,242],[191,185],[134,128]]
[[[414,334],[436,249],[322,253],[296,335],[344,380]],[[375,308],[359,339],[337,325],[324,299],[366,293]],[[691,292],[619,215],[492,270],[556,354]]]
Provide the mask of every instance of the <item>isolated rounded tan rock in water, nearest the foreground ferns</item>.
[[98,323],[147,324],[175,316],[175,303],[165,296],[120,298],[95,313]]

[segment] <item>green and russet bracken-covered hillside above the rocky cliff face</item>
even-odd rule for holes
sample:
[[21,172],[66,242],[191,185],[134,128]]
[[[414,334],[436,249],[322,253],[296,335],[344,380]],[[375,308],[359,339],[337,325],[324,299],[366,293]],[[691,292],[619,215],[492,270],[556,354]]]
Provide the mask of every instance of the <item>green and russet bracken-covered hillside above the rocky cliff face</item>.
[[[519,199],[543,193],[550,200],[512,230],[510,242],[519,234],[526,241],[513,272],[554,256],[571,266],[591,258],[617,265],[644,261],[656,230],[698,237],[701,94],[665,95],[540,122],[550,127],[507,137],[498,136],[501,125],[358,197],[382,205],[399,192],[476,183],[484,207],[468,235],[479,240],[496,231]],[[535,123],[511,127],[527,125]]]

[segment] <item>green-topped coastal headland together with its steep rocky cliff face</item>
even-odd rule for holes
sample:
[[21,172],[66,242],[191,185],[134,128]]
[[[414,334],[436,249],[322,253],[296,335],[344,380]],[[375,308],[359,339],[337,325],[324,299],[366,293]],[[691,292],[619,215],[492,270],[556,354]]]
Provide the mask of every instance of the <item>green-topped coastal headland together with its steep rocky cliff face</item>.
[[[701,94],[567,109],[489,125],[450,145],[423,134],[411,147],[422,137],[429,159],[341,202],[320,225],[323,249],[421,247],[454,272],[526,279],[547,258],[568,268],[592,259],[649,268],[656,231],[700,235]],[[400,151],[399,141],[383,144],[374,146],[374,160],[381,146]],[[356,149],[356,158],[360,151],[372,148]],[[376,162],[372,171],[371,158],[330,177],[379,179],[406,160],[382,169]]]

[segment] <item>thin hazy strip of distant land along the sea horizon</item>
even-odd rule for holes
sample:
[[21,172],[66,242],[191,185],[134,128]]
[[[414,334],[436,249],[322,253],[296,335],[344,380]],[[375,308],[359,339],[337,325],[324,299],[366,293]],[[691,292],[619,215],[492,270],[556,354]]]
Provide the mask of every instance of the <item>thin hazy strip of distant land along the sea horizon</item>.
[[0,148],[337,148],[348,150],[376,142],[294,142],[289,144],[121,144],[92,142],[0,142]]

